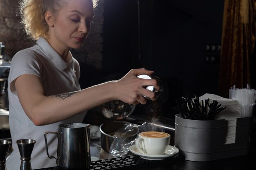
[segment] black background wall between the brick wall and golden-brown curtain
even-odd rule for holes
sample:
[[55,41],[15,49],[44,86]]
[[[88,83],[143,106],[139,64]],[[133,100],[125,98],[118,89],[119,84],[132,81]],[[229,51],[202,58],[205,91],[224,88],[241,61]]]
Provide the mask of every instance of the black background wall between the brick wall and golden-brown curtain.
[[132,68],[155,71],[166,87],[164,114],[177,97],[217,94],[223,7],[216,0],[105,0],[101,80]]

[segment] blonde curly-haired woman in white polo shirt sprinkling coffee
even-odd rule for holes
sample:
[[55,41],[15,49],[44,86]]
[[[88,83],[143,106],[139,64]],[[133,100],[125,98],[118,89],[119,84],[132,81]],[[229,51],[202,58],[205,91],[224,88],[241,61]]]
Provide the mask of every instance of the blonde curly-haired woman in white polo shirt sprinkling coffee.
[[[81,122],[85,111],[111,100],[145,104],[143,96],[155,93],[143,86],[157,86],[140,79],[144,68],[131,70],[123,78],[81,90],[79,64],[70,48],[79,49],[90,31],[96,0],[23,0],[22,22],[37,44],[19,51],[12,59],[8,79],[9,124],[13,152],[7,170],[20,167],[18,139],[34,139],[32,169],[56,166],[45,151],[44,133],[58,131],[65,122]],[[49,155],[56,155],[57,139],[47,136]]]

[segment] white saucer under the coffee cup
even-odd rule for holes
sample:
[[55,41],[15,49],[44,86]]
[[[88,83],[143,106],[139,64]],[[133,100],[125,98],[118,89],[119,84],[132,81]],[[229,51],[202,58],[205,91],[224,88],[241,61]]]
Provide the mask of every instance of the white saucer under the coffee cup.
[[171,157],[179,153],[179,149],[174,147],[174,146],[167,146],[164,155],[147,155],[142,153],[137,149],[135,145],[132,145],[129,147],[130,152],[139,155],[143,159],[148,159],[148,160],[162,160],[166,159],[167,157]]

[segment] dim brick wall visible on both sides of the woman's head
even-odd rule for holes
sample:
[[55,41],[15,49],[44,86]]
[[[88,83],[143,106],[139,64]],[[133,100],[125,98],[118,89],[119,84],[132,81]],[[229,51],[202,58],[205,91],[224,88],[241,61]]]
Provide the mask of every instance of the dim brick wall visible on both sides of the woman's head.
[[[19,0],[0,0],[0,42],[4,43],[4,52],[10,57],[33,44],[26,38],[23,26],[20,24],[20,17],[17,16],[18,2]],[[72,51],[80,63],[90,65],[96,70],[102,67],[103,4],[104,0],[100,0],[95,10],[91,32],[84,46]]]

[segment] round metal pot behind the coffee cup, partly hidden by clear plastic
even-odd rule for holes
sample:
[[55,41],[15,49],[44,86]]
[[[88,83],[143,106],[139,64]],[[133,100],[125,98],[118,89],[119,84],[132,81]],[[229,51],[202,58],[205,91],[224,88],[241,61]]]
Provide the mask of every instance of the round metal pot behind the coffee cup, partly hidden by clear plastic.
[[[101,131],[101,148],[106,152],[110,151],[110,146],[117,136],[114,136],[120,128],[124,127],[125,124],[130,124],[126,121],[110,121],[99,126]],[[138,129],[135,128],[129,132],[129,139],[133,140],[137,137]]]

